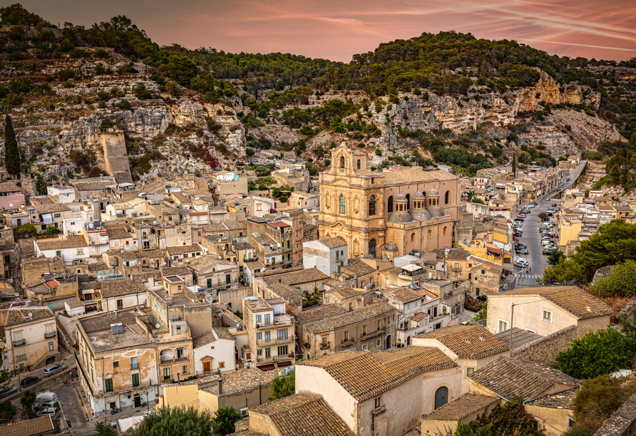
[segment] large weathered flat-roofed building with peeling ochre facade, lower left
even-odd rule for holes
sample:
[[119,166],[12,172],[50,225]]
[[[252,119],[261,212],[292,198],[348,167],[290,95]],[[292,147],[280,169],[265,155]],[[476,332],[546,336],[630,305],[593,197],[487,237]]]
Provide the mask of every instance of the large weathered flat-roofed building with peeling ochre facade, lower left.
[[149,321],[135,308],[78,321],[78,373],[94,416],[155,403],[162,385],[194,374],[188,324],[156,328]]

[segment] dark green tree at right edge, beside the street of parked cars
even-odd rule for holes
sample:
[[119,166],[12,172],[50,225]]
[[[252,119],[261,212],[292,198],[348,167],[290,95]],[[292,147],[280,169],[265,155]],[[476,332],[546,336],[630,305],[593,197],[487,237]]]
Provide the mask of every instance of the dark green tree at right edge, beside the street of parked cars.
[[627,259],[636,259],[636,224],[628,224],[624,219],[612,219],[600,226],[572,255],[572,260],[583,266],[590,278],[601,266],[620,264]]

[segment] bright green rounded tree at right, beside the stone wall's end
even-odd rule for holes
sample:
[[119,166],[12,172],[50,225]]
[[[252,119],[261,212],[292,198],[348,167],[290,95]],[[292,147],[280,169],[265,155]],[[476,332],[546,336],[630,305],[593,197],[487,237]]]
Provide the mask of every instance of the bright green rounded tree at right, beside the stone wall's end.
[[568,351],[559,353],[557,367],[580,380],[631,368],[634,355],[629,346],[627,338],[611,327],[590,331],[583,338],[572,341]]

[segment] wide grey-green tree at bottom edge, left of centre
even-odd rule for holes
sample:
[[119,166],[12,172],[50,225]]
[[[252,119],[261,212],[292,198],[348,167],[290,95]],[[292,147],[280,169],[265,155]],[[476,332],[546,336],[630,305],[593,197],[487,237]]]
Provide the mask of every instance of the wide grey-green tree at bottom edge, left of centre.
[[[217,410],[217,415],[222,409]],[[156,412],[146,415],[139,427],[133,430],[132,436],[214,436],[215,433],[212,432],[214,422],[215,418],[212,418],[207,410],[160,408]],[[222,435],[227,435],[227,432],[222,433]]]

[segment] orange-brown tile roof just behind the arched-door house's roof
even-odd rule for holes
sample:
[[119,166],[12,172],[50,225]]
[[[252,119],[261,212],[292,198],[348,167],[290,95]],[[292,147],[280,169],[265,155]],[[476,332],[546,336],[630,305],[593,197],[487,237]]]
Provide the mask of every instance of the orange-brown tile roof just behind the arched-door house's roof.
[[462,359],[481,359],[510,350],[508,343],[482,326],[450,326],[415,338],[436,339]]

